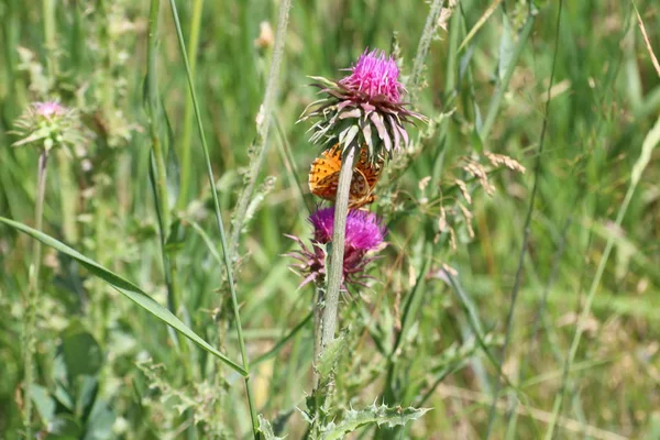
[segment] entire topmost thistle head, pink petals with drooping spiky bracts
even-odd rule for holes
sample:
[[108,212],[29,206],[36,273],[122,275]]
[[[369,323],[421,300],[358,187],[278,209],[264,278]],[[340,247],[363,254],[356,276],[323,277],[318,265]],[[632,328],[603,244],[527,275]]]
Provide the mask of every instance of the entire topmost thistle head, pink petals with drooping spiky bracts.
[[427,121],[402,101],[396,62],[383,52],[365,51],[351,74],[339,81],[311,77],[323,98],[312,102],[300,120],[319,119],[312,127],[312,143],[326,147],[339,143],[343,150],[355,143],[366,145],[372,162],[409,143],[405,124]]

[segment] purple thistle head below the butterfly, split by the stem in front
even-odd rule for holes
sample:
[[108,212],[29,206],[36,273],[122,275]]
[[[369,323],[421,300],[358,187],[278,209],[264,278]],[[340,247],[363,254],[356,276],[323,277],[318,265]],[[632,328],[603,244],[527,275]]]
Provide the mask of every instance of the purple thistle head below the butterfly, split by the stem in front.
[[[314,228],[311,248],[305,245],[299,238],[287,235],[300,245],[300,250],[287,254],[299,262],[293,264],[292,268],[305,276],[299,287],[312,280],[316,283],[323,283],[324,280],[326,260],[328,256],[326,244],[332,242],[334,208],[324,208],[316,211],[309,217],[309,222]],[[385,227],[383,227],[376,215],[360,210],[349,211],[342,284],[353,283],[364,286],[363,280],[367,278],[364,270],[369,263],[376,258],[375,256],[370,256],[370,253],[381,248],[385,232]]]

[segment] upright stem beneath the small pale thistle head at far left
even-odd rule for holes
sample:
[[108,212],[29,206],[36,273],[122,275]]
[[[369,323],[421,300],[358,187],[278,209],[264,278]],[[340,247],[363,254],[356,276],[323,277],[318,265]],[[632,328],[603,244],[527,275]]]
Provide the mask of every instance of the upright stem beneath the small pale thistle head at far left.
[[[38,172],[36,176],[36,205],[34,209],[34,224],[37,231],[42,230],[44,198],[46,194],[46,164],[48,153],[42,151],[38,157]],[[32,265],[30,266],[30,286],[25,298],[25,318],[23,319],[23,363],[25,369],[25,381],[23,385],[23,427],[25,428],[25,438],[32,439],[32,398],[30,389],[34,382],[34,351],[35,351],[35,320],[36,320],[36,304],[38,301],[38,274],[41,270],[42,244],[38,240],[34,241],[32,248]]]

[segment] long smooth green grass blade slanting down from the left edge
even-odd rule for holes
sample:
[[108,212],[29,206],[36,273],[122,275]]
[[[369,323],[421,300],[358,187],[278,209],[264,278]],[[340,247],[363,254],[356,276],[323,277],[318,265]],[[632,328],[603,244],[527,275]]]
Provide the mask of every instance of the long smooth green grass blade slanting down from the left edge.
[[142,307],[143,309],[145,309],[146,311],[148,311],[150,314],[152,314],[153,316],[158,318],[161,321],[170,326],[173,329],[175,329],[176,331],[178,331],[179,333],[182,333],[183,336],[185,336],[186,338],[188,338],[189,340],[195,342],[197,345],[199,345],[200,348],[202,348],[210,354],[218,358],[220,361],[224,362],[237,373],[241,374],[242,376],[248,376],[248,372],[245,370],[243,370],[239,364],[231,361],[229,358],[227,358],[224,354],[220,353],[218,350],[213,349],[207,341],[201,339],[197,333],[195,333],[189,327],[187,327],[185,323],[183,323],[169,310],[167,310],[165,307],[163,307],[158,302],[156,302],[151,296],[148,296],[140,287],[135,286],[133,283],[122,278],[121,276],[117,275],[112,271],[109,271],[106,267],[99,265],[94,260],[88,258],[87,256],[82,255],[78,251],[67,246],[66,244],[62,243],[61,241],[55,240],[54,238],[52,238],[43,232],[40,232],[40,231],[32,229],[23,223],[7,219],[4,217],[0,217],[0,223],[4,223],[11,228],[14,228],[14,229],[21,231],[21,232],[24,232],[28,235],[31,235],[32,238],[41,241],[45,245],[51,246],[51,248],[55,249],[56,251],[70,256],[72,258],[75,258],[76,261],[78,261],[78,263],[80,263],[82,266],[85,266],[85,268],[87,268],[92,275],[98,276],[99,278],[103,279],[106,283],[110,284],[119,293],[127,296],[129,299],[131,299],[132,301],[138,304],[140,307]]

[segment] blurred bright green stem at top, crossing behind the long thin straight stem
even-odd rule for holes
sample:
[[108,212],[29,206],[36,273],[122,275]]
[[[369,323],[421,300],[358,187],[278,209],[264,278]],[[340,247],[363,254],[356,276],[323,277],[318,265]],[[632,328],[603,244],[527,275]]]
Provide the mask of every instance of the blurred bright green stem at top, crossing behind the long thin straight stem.
[[[193,18],[190,20],[190,36],[189,44],[190,54],[189,54],[189,63],[190,63],[190,75],[195,78],[195,73],[197,72],[197,50],[199,47],[199,30],[201,23],[201,11],[202,11],[204,0],[195,0],[193,4]],[[193,99],[188,95],[186,98],[186,109],[184,112],[184,133],[182,135],[182,190],[179,193],[179,198],[177,201],[178,209],[185,209],[186,204],[188,201],[188,194],[190,191],[190,150],[191,143],[190,138],[193,135]]]

